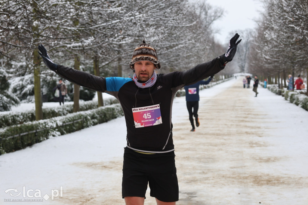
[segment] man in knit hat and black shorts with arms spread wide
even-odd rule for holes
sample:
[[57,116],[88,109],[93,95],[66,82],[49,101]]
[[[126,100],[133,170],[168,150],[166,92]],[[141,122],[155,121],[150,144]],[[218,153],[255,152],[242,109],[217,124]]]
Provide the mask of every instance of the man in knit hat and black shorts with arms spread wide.
[[[172,205],[179,200],[174,145],[172,139],[172,102],[185,85],[213,76],[235,56],[239,35],[229,42],[225,54],[186,71],[156,74],[161,65],[156,49],[143,41],[132,54],[129,66],[133,78],[100,77],[52,62],[40,44],[43,62],[60,77],[79,86],[106,92],[122,106],[127,146],[124,148],[122,198],[125,203],[144,204],[147,186],[158,205]],[[238,41],[237,41],[238,40]]]

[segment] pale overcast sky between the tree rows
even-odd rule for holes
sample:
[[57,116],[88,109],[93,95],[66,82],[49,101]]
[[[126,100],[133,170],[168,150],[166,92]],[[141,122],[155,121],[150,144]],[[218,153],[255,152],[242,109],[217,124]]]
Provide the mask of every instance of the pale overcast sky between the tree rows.
[[[197,2],[191,0],[191,2]],[[212,6],[218,6],[225,10],[223,17],[214,23],[214,28],[219,28],[219,34],[215,37],[218,42],[225,44],[233,36],[229,33],[246,28],[255,28],[254,20],[258,19],[263,11],[259,0],[206,0]],[[241,33],[239,33],[241,35]],[[240,37],[241,38],[241,37]]]

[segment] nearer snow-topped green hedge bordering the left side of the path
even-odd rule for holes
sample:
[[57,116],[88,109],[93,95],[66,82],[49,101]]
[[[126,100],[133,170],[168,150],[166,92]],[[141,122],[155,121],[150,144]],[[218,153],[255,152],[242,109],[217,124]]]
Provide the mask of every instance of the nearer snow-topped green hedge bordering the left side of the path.
[[31,146],[51,136],[75,132],[123,115],[120,104],[114,104],[66,116],[1,128],[0,155]]

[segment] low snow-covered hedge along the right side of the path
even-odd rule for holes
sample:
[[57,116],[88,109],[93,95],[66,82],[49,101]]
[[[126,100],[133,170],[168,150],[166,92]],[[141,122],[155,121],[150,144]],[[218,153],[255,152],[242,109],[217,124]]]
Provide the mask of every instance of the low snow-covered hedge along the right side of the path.
[[292,90],[279,89],[278,86],[275,85],[268,86],[267,89],[275,94],[282,95],[286,100],[308,111],[308,96],[305,94],[301,94]]

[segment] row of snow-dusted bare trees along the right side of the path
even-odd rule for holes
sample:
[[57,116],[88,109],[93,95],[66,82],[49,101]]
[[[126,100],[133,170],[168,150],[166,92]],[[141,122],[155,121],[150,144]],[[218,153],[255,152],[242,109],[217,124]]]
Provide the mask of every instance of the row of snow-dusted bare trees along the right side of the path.
[[252,41],[250,68],[278,78],[282,73],[284,81],[287,73],[301,73],[303,67],[307,68],[307,4],[297,0],[264,1],[265,12]]

